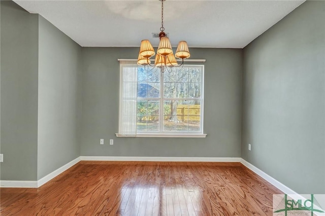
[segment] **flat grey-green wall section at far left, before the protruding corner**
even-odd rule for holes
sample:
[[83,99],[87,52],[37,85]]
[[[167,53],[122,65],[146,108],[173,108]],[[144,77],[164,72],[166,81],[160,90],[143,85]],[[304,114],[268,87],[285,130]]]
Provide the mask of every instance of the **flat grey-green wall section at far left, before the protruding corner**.
[[1,1],[3,180],[37,177],[38,15]]

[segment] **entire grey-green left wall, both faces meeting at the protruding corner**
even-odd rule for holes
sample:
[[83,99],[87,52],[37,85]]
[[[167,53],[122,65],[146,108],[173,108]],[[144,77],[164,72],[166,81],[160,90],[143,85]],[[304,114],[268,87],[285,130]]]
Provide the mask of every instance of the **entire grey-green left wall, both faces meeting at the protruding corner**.
[[36,181],[80,156],[81,47],[1,1],[1,179]]

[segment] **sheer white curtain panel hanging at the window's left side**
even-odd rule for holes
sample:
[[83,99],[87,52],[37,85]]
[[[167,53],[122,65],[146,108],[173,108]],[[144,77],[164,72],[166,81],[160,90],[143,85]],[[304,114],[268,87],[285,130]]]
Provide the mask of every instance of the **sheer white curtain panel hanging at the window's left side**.
[[137,79],[136,61],[120,61],[119,131],[121,136],[137,134]]

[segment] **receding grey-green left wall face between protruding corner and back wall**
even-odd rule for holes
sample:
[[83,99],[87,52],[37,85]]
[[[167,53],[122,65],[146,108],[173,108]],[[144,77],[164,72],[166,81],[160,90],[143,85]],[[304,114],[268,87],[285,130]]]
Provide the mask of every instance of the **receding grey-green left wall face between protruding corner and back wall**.
[[80,156],[81,47],[39,17],[38,179]]

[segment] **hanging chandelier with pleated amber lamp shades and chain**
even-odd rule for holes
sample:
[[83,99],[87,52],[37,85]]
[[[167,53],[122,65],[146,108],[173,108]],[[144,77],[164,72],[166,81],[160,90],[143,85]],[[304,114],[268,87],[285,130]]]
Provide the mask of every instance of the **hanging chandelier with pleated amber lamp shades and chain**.
[[[180,41],[174,55],[171,42],[169,38],[166,37],[164,32],[164,1],[161,2],[161,27],[159,33],[159,46],[157,49],[157,54],[154,59],[154,64],[151,65],[150,58],[155,55],[152,45],[149,40],[142,40],[140,45],[140,52],[138,56],[138,64],[143,66],[152,66],[160,68],[161,73],[164,73],[165,68],[171,68],[175,66],[181,66],[184,63],[184,59],[189,58],[190,53],[188,51],[188,46],[186,41]],[[182,63],[178,65],[176,58],[182,59]]]

